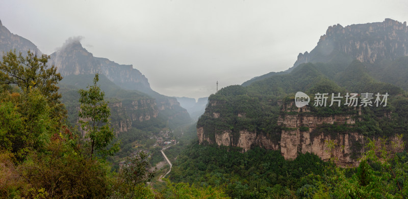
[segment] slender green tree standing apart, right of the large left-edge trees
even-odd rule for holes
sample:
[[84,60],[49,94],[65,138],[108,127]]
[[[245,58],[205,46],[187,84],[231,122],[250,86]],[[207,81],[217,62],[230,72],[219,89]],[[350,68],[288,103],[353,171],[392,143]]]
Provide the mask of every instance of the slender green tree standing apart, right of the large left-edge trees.
[[79,123],[86,133],[85,138],[89,138],[90,156],[92,157],[97,151],[106,158],[106,156],[112,156],[119,151],[120,143],[117,142],[110,149],[107,149],[114,137],[114,132],[110,125],[111,112],[108,102],[104,99],[105,92],[97,86],[98,80],[98,74],[95,74],[93,86],[87,87],[88,90],[79,90],[79,102],[81,103]]

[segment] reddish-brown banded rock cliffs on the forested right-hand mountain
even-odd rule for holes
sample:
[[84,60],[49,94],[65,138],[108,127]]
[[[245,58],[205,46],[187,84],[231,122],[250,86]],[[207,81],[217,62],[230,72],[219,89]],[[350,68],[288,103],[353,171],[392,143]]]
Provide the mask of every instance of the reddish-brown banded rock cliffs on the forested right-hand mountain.
[[[210,104],[217,105],[220,102],[210,101]],[[361,115],[360,110],[356,110],[356,115],[334,115],[318,117],[310,112],[308,106],[297,108],[294,103],[282,104],[283,112],[291,112],[279,117],[278,125],[284,127],[279,137],[271,137],[267,132],[251,132],[240,130],[239,135],[234,136],[231,130],[221,132],[206,132],[202,126],[197,126],[197,135],[200,144],[216,144],[218,146],[240,147],[245,152],[253,146],[260,146],[269,150],[280,150],[287,160],[293,160],[299,153],[313,153],[322,160],[336,158],[339,166],[357,166],[358,158],[364,153],[367,138],[357,132],[322,132],[316,129],[322,125],[333,124],[355,124],[355,118]],[[294,113],[297,112],[297,113]],[[213,117],[222,117],[219,113],[207,112]],[[240,113],[242,117],[242,113]],[[303,127],[304,131],[300,130]],[[307,127],[307,128],[305,128]],[[371,137],[380,145],[380,139]],[[394,143],[402,143],[402,138],[398,136],[389,137]],[[330,147],[331,146],[331,147]],[[390,151],[399,152],[402,148],[392,148]]]

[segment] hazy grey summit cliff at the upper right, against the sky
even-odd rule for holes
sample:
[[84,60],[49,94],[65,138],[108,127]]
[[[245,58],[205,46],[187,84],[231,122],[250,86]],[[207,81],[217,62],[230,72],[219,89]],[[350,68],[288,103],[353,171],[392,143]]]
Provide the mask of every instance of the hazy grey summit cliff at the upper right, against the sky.
[[310,52],[300,53],[294,67],[307,62],[329,61],[332,52],[349,55],[353,60],[374,63],[408,55],[406,22],[385,19],[383,22],[329,26]]

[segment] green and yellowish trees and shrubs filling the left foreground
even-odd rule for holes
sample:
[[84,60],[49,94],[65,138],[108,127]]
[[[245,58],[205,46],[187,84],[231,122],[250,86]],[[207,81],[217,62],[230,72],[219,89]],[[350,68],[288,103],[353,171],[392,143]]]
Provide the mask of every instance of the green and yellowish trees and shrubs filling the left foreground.
[[[115,172],[106,161],[120,149],[98,75],[79,91],[80,128],[70,128],[49,56],[10,51],[0,63],[0,196],[2,198],[226,198],[220,188],[168,182],[162,191],[145,152]],[[19,61],[23,60],[20,64]],[[135,172],[137,171],[137,172]]]

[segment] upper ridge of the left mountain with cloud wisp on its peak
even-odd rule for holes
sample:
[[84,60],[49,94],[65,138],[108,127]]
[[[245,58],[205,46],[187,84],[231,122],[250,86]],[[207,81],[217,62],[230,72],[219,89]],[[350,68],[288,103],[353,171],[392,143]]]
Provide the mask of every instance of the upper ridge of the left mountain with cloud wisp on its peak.
[[187,110],[175,98],[151,90],[147,78],[132,65],[119,65],[105,58],[95,58],[79,41],[65,44],[59,51],[51,54],[49,64],[56,65],[57,71],[67,81],[70,78],[78,79],[75,75],[99,73],[121,89],[146,93],[155,99],[159,115],[166,118],[171,127],[191,122]]

